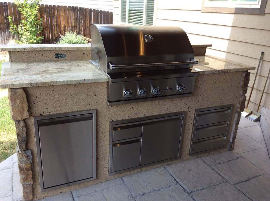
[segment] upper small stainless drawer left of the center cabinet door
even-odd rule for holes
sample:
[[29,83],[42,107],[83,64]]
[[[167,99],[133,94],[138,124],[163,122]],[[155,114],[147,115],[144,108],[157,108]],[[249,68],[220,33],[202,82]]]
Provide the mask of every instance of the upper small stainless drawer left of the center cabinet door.
[[141,137],[141,124],[121,124],[113,127],[113,141]]

